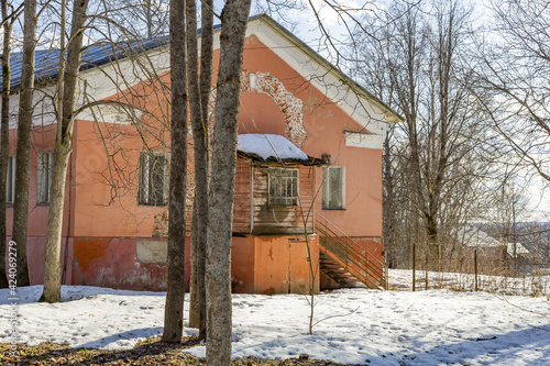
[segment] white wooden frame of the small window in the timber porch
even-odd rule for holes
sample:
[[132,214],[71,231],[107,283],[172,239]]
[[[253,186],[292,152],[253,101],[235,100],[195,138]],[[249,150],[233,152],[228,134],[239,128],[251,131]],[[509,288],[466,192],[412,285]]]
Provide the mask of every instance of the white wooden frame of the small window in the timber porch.
[[[277,175],[278,174],[278,175]],[[288,174],[289,176],[284,176],[283,174]],[[272,186],[275,181],[272,179],[280,178],[279,181],[279,193],[280,196],[274,196],[272,193]],[[288,179],[290,179],[290,192],[288,191]],[[286,185],[284,181],[286,181]],[[286,186],[286,187],[285,187]],[[276,188],[275,188],[276,189]],[[267,202],[270,207],[285,207],[285,206],[298,206],[299,195],[300,195],[300,170],[297,168],[268,168],[267,171]],[[293,195],[289,196],[288,193]]]

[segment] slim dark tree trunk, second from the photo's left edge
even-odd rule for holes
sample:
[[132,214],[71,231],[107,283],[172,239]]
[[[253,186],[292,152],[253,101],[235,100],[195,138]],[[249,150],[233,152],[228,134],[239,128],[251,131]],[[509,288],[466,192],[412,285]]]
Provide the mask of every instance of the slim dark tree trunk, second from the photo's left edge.
[[18,286],[31,285],[26,266],[26,225],[29,215],[29,162],[34,93],[34,51],[36,46],[36,0],[25,0],[23,62],[19,98],[18,155],[12,240],[18,248]]

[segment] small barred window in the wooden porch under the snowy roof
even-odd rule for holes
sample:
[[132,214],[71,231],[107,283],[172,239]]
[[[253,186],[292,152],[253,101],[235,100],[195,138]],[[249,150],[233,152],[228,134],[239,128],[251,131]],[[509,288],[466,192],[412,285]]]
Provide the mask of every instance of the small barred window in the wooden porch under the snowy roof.
[[298,169],[270,168],[270,206],[298,204]]

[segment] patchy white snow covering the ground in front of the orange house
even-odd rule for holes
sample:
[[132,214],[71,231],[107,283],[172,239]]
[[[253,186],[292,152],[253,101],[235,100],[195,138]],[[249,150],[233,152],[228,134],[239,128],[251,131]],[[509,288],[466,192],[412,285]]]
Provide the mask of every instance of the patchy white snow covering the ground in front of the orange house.
[[[391,271],[391,278],[399,284],[407,273]],[[162,333],[165,293],[64,286],[66,302],[45,304],[35,302],[41,291],[40,286],[19,289],[23,343],[124,348]],[[0,290],[0,342],[9,342],[8,298],[8,290]],[[233,356],[308,354],[369,365],[550,365],[546,297],[348,289],[316,299],[318,323],[309,335],[304,296],[234,295]],[[204,356],[205,347],[189,353]]]

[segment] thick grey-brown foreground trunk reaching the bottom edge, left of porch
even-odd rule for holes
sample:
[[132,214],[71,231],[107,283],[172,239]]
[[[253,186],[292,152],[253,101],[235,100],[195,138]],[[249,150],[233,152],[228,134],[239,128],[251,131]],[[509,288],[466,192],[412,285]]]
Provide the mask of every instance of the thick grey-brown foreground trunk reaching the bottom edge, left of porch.
[[251,0],[228,0],[221,14],[207,245],[207,364],[231,362],[231,232],[244,35]]

